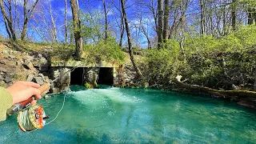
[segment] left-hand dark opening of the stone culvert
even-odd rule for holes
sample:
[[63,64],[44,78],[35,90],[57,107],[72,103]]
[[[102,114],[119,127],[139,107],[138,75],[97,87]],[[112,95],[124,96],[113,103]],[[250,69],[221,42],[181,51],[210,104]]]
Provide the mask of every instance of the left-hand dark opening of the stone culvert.
[[70,85],[83,85],[83,67],[78,67],[70,74]]

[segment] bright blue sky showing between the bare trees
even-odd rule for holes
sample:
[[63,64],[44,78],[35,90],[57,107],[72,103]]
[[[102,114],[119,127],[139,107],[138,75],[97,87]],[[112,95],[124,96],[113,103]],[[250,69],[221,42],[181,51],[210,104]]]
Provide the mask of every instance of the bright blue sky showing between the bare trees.
[[[28,0],[28,1],[29,1],[29,6],[31,6],[32,3],[35,2],[35,0]],[[67,0],[67,1],[68,1],[67,2],[67,5],[68,5],[67,19],[68,19],[68,22],[71,22],[72,21],[72,11],[70,8],[70,0]],[[20,13],[20,14],[18,14],[19,21],[20,21],[19,27],[22,27],[23,0],[14,0],[13,2],[16,2],[18,5],[18,11]],[[103,14],[102,0],[78,0],[78,3],[79,3],[79,7],[82,10],[82,12],[84,14],[88,14],[88,13],[92,14],[93,18],[96,18],[96,15],[94,15],[94,14],[96,14],[96,11],[98,11],[97,14],[100,14],[100,15]],[[130,1],[130,2],[127,2],[126,4],[127,4],[127,6],[131,6],[133,4],[133,2]],[[33,40],[35,42],[44,41],[45,39],[43,39],[43,38],[46,38],[45,35],[47,35],[47,30],[49,31],[49,29],[51,27],[50,8],[49,8],[50,5],[52,6],[52,13],[54,16],[55,25],[56,25],[57,32],[58,32],[58,41],[59,42],[64,41],[65,0],[44,0],[44,1],[39,0],[38,5],[36,6],[36,8],[34,10],[33,17],[30,19],[29,29],[28,29],[28,33],[27,33],[28,36],[31,38],[31,40]],[[116,10],[114,8],[114,5],[119,6],[119,2],[115,1],[114,4],[111,4],[109,0],[106,0],[107,9],[109,9],[110,6],[112,7],[112,9],[108,12],[108,15],[107,15],[109,18],[110,30],[117,29],[115,22],[118,18],[116,18],[117,16],[114,16],[114,14],[115,13],[118,14],[118,10]],[[127,9],[128,17],[129,17],[130,11],[132,11],[132,6],[131,6],[131,8]],[[2,14],[1,14],[0,19],[1,19],[0,33],[3,36],[7,37]],[[15,21],[15,18],[14,18],[14,21]],[[16,22],[17,21],[18,21],[18,18],[16,18]],[[101,23],[103,24],[103,18],[101,19],[101,21],[102,21]],[[16,26],[16,27],[18,27],[18,26]],[[38,29],[38,30],[34,30],[34,29]],[[38,34],[38,32],[42,32],[42,31],[44,31],[45,34]],[[114,31],[112,34],[115,34],[114,37],[118,37],[116,31]],[[48,32],[48,35],[49,35],[49,32]],[[50,41],[50,40],[48,40],[48,41]]]

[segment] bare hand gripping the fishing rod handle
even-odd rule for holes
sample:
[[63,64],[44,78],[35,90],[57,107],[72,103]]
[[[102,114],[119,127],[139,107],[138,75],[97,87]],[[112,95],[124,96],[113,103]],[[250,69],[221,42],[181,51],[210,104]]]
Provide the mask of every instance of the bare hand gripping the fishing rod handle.
[[[41,91],[38,90],[37,83],[34,82],[15,82],[13,85],[9,86],[6,90],[10,92],[13,97],[13,104],[18,102],[23,102],[26,99],[30,98],[34,95],[36,99],[42,98]],[[37,101],[34,100],[31,104],[36,103]]]

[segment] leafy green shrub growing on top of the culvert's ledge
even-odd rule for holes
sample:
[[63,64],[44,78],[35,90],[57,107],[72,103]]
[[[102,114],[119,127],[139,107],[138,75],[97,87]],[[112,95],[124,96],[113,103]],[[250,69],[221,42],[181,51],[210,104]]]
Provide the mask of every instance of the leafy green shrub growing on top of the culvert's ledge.
[[124,54],[122,48],[118,46],[114,38],[109,38],[107,41],[101,40],[96,45],[86,45],[87,60],[97,62],[98,60],[123,62]]

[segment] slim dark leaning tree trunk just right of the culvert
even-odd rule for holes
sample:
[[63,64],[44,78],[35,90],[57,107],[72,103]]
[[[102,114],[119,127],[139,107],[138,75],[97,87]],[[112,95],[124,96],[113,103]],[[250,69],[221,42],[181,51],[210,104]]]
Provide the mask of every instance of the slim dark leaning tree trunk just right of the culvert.
[[128,20],[127,20],[127,17],[126,17],[126,8],[125,8],[124,0],[121,0],[121,4],[122,4],[122,14],[123,14],[123,17],[125,19],[125,24],[126,24],[126,33],[127,33],[127,38],[128,38],[130,61],[133,63],[134,70],[136,71],[136,73],[138,74],[138,77],[140,78],[140,77],[142,77],[142,73],[138,69],[138,66],[136,65],[136,63],[134,62],[134,54],[133,54],[133,51],[132,51],[132,45],[131,45],[131,39],[130,39],[130,28],[129,28]]

